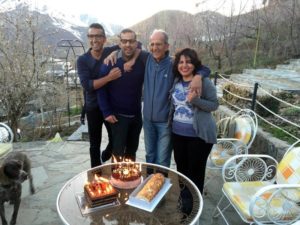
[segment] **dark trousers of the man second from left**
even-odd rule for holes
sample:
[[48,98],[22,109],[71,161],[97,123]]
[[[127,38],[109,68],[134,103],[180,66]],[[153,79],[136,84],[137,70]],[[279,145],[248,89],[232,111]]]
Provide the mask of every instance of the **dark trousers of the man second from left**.
[[143,126],[142,115],[132,118],[116,115],[116,118],[118,122],[110,124],[113,135],[113,156],[117,161],[123,161],[124,158],[135,161]]

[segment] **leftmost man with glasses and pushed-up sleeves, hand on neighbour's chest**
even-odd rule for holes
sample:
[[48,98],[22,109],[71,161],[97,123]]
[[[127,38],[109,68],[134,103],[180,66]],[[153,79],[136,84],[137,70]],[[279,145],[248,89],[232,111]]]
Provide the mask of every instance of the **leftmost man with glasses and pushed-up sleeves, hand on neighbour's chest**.
[[110,128],[108,123],[104,121],[102,112],[97,104],[96,90],[106,83],[120,77],[121,71],[115,69],[110,71],[108,76],[100,78],[99,71],[103,60],[119,47],[103,47],[106,42],[105,31],[98,23],[93,23],[89,26],[87,37],[90,49],[79,56],[77,60],[77,70],[80,83],[84,89],[84,105],[89,131],[91,167],[95,167],[101,165],[100,146],[103,123],[107,128],[109,136],[109,143],[104,151],[106,154],[102,154],[102,156],[104,156],[102,157],[103,161],[110,158],[112,148]]

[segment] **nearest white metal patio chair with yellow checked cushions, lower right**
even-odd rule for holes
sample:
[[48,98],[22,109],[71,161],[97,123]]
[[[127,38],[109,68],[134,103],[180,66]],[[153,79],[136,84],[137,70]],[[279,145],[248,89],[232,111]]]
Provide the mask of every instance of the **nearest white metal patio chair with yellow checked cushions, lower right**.
[[[280,163],[269,155],[237,155],[222,170],[223,195],[213,212],[222,216],[232,206],[249,224],[293,224],[300,219],[300,141]],[[226,201],[227,200],[227,201]],[[229,204],[225,204],[224,202]]]

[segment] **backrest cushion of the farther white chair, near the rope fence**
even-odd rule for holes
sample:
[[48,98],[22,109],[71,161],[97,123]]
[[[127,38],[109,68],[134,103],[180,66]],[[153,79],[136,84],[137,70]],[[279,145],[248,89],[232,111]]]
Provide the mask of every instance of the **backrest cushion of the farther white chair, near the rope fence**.
[[235,133],[234,138],[241,140],[244,144],[248,144],[251,139],[251,120],[249,117],[235,118]]

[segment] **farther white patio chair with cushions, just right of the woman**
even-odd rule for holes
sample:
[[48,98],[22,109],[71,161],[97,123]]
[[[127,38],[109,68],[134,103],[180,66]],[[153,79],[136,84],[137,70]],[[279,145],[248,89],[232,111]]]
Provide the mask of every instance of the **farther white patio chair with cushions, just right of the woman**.
[[[257,133],[257,117],[251,109],[242,109],[231,117],[218,121],[217,144],[208,157],[208,169],[222,170],[224,163],[231,157],[247,154]],[[212,179],[205,182],[205,186]]]

